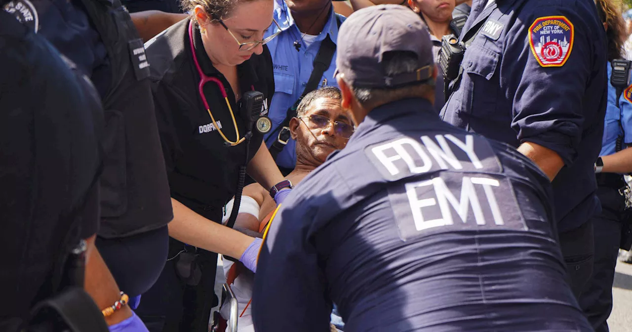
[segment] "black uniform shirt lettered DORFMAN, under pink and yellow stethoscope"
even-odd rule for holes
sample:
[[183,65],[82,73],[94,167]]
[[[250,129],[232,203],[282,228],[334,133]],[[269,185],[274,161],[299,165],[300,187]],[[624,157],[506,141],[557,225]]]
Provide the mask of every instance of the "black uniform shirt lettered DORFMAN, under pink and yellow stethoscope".
[[[202,216],[219,221],[221,207],[236,192],[239,166],[245,163],[246,143],[224,146],[224,140],[212,123],[198,92],[200,75],[191,54],[188,25],[189,20],[183,20],[145,44],[156,117],[171,197]],[[231,86],[210,62],[199,30],[194,28],[193,31],[200,67],[205,75],[217,77],[224,84],[243,137],[245,125]],[[267,47],[264,46],[261,55],[253,54],[237,70],[243,92],[254,87],[264,94],[262,114],[267,113],[267,105],[274,93],[272,59]],[[234,141],[233,120],[218,85],[206,83],[204,94],[217,125],[229,140]],[[258,151],[261,142],[262,135],[253,130],[248,160]]]

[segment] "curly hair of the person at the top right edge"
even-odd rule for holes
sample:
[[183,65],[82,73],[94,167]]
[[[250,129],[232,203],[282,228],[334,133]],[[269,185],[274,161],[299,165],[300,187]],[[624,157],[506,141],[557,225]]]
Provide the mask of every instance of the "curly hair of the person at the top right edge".
[[595,0],[601,22],[607,24],[605,35],[608,39],[608,61],[623,58],[623,44],[626,41],[626,27],[621,16],[623,3],[620,0]]

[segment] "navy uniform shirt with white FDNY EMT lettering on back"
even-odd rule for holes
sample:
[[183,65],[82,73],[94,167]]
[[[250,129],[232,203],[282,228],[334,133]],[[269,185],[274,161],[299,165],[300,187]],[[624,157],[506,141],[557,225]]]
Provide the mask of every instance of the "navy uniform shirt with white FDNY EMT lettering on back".
[[564,281],[549,184],[428,101],[374,109],[272,221],[257,331],[590,331]]

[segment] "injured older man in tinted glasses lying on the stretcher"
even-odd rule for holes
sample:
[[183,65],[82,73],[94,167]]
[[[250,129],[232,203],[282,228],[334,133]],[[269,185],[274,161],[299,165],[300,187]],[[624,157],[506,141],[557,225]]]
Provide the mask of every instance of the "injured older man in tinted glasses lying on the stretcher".
[[[296,109],[296,117],[289,122],[292,138],[296,140],[296,168],[287,178],[295,185],[324,163],[329,154],[343,149],[351,137],[354,130],[351,116],[340,107],[341,98],[337,87],[314,90],[303,98]],[[243,190],[234,228],[253,237],[262,237],[262,231],[276,207],[264,187],[258,183],[248,185]],[[226,206],[224,223],[232,209],[233,200]],[[254,273],[227,259],[224,259],[224,272],[239,302],[238,331],[253,331],[248,302],[252,297]],[[228,318],[228,305],[222,307],[221,313]]]

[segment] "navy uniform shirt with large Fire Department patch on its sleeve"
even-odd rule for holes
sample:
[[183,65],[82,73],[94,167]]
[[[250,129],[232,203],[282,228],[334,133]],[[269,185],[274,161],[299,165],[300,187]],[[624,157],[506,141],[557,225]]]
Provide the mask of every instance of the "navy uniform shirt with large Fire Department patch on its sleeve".
[[592,0],[475,1],[461,35],[489,17],[465,52],[463,79],[442,118],[513,147],[557,152],[553,181],[559,231],[599,209],[593,164],[604,126],[605,32]]

